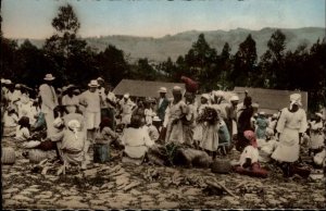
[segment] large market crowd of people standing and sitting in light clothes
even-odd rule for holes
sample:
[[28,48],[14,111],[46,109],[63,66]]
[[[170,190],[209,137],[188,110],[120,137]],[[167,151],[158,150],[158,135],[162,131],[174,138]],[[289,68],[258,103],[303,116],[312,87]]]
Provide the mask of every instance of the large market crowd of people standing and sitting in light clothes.
[[55,89],[54,79],[47,74],[37,89],[1,79],[1,134],[14,136],[24,156],[32,149],[55,150],[65,167],[87,169],[89,148],[105,145],[140,164],[151,149],[173,142],[204,151],[212,162],[236,149],[241,153],[236,172],[264,177],[260,163],[272,162],[288,177],[306,174],[297,165],[305,145],[315,166],[325,162],[324,115],[308,120],[300,94],[289,96],[289,107],[267,115],[248,92],[243,102],[222,90],[197,98],[196,83],[185,77],[186,90],[161,87],[156,98],[118,98],[101,77],[85,90],[72,84]]

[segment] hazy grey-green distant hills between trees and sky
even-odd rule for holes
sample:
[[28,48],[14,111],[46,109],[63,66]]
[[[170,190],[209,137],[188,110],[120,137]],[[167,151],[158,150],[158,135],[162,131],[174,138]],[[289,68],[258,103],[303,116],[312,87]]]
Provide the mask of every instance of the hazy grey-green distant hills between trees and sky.
[[[85,40],[88,45],[99,51],[105,49],[108,45],[113,45],[122,49],[126,54],[129,54],[130,61],[136,61],[139,58],[148,58],[151,61],[165,61],[171,57],[174,61],[178,55],[184,55],[191,48],[191,45],[197,40],[198,36],[203,33],[209,45],[221,53],[224,44],[227,41],[231,47],[231,53],[238,50],[246,37],[251,34],[256,42],[259,57],[267,49],[267,41],[276,28],[263,28],[261,30],[251,30],[246,28],[237,28],[231,30],[189,30],[176,35],[166,35],[162,38],[152,37],[135,37],[135,36],[101,36],[88,37]],[[311,47],[319,38],[323,40],[325,28],[321,27],[304,27],[304,28],[281,28],[286,35],[287,49],[294,50],[299,45],[306,44]],[[24,39],[20,39],[22,44]],[[45,40],[30,40],[32,44],[40,48]]]

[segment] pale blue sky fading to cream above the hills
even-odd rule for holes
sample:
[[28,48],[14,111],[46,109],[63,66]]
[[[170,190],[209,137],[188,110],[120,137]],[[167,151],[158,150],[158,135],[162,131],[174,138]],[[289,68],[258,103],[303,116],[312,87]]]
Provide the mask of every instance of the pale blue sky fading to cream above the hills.
[[186,30],[264,27],[325,27],[326,0],[2,0],[2,33],[8,38],[43,39],[51,21],[71,3],[78,35],[163,37]]

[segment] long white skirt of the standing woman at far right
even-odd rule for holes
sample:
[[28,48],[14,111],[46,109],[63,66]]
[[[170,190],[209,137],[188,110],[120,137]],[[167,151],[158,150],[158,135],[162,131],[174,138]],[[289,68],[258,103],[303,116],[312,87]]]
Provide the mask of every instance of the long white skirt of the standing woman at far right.
[[285,128],[272,158],[283,162],[296,162],[299,159],[299,131]]

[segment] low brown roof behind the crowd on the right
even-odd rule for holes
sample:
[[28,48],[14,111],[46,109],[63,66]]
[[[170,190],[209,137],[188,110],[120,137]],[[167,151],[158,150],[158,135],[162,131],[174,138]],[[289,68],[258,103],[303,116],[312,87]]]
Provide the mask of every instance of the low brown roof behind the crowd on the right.
[[249,88],[249,87],[235,87],[236,92],[240,101],[244,98],[244,90],[248,90],[248,95],[252,98],[252,102],[259,103],[260,111],[266,113],[275,113],[278,110],[286,108],[290,103],[291,94],[301,94],[302,108],[308,110],[308,92],[306,91],[290,91],[290,90],[277,90],[277,89],[263,89],[263,88]]

